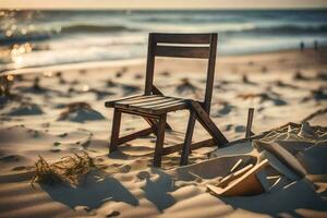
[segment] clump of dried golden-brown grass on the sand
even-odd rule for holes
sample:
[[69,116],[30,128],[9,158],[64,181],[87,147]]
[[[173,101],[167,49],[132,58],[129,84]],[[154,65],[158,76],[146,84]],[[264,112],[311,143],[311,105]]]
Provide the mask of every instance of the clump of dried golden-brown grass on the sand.
[[32,185],[43,184],[66,184],[77,186],[83,178],[93,169],[98,169],[86,153],[83,155],[74,154],[73,156],[63,157],[60,161],[49,164],[41,156],[35,162],[36,174],[32,179]]

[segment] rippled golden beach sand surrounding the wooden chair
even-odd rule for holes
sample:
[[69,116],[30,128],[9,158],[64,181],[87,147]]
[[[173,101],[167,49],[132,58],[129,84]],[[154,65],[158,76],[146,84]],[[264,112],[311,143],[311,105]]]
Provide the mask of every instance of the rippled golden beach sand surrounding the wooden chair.
[[[179,153],[171,154],[161,169],[152,167],[154,135],[108,157],[112,110],[104,104],[142,93],[144,61],[21,70],[11,99],[0,97],[0,217],[326,217],[326,133],[313,128],[327,126],[326,55],[323,49],[218,57],[213,120],[229,141],[242,138],[253,107],[252,130],[261,138],[194,150],[186,167],[178,166]],[[159,59],[157,65],[155,83],[165,94],[204,95],[204,62]],[[172,112],[168,121],[174,132],[167,133],[165,146],[182,142],[187,113]],[[298,125],[276,129],[289,122]],[[123,116],[123,132],[146,125]],[[197,123],[194,141],[207,136]],[[31,185],[39,155],[55,162],[83,152],[102,170],[77,187]],[[264,159],[267,192],[207,192],[207,184]]]

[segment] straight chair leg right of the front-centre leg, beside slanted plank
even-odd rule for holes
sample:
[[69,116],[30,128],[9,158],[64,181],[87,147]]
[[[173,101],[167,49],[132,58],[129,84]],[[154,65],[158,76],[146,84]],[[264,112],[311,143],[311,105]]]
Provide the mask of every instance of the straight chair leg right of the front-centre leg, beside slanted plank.
[[196,121],[195,118],[196,118],[195,112],[193,110],[191,110],[189,123],[187,123],[187,130],[186,130],[185,140],[184,140],[184,145],[182,148],[180,166],[189,164],[190,147],[191,147],[193,132],[194,132],[194,125],[195,125],[195,121]]

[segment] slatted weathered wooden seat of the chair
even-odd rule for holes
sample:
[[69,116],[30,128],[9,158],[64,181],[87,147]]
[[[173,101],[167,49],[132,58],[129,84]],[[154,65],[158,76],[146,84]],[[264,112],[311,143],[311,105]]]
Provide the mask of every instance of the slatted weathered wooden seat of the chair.
[[123,99],[106,101],[108,108],[120,108],[126,111],[136,111],[148,114],[162,114],[174,110],[186,108],[186,99],[160,96],[140,95]]

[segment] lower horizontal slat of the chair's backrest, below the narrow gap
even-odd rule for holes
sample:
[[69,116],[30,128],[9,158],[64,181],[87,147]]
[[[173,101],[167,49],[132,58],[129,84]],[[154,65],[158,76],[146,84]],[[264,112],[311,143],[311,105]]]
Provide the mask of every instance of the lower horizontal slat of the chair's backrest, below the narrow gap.
[[155,55],[159,57],[207,59],[209,47],[157,46]]

